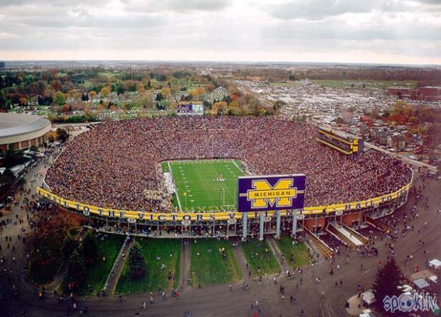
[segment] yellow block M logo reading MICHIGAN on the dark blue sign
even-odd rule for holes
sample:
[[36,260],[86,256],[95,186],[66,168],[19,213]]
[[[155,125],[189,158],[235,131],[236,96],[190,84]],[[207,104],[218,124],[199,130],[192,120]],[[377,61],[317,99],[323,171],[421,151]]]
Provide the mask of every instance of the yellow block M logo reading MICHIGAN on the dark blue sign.
[[271,186],[267,180],[253,180],[253,189],[248,189],[247,199],[251,208],[291,207],[292,199],[297,197],[297,188],[292,178],[281,178]]

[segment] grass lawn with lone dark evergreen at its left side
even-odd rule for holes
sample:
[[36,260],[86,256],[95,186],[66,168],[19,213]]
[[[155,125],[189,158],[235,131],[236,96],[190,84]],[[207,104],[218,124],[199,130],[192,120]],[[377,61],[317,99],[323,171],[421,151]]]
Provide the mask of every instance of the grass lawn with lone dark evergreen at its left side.
[[[116,293],[145,293],[147,291],[169,291],[179,286],[182,241],[180,239],[136,238],[146,260],[147,274],[142,279],[132,280],[126,261],[115,289]],[[126,256],[128,259],[128,256]],[[165,264],[166,268],[161,269]],[[174,280],[169,280],[169,271]]]

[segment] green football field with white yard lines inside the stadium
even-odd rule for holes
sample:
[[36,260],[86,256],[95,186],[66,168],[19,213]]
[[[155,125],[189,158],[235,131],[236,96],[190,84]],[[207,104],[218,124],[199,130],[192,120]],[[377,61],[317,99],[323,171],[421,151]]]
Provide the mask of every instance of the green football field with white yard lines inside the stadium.
[[[163,162],[176,185],[176,207],[182,211],[209,211],[237,207],[238,177],[243,175],[238,160],[183,160]],[[223,178],[220,182],[217,178]]]

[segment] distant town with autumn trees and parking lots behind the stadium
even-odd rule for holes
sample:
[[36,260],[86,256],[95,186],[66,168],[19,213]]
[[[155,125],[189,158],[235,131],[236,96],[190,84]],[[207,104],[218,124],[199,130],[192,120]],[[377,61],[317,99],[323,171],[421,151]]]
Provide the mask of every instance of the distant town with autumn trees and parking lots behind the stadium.
[[441,69],[314,63],[0,62],[0,109],[82,123],[257,115],[330,125],[410,160],[440,165]]

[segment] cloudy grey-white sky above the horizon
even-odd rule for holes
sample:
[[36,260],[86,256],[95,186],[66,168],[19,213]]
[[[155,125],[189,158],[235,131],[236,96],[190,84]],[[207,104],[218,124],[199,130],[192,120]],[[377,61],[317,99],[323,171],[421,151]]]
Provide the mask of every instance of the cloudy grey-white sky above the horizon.
[[441,0],[0,0],[0,60],[441,64]]

